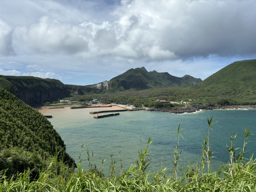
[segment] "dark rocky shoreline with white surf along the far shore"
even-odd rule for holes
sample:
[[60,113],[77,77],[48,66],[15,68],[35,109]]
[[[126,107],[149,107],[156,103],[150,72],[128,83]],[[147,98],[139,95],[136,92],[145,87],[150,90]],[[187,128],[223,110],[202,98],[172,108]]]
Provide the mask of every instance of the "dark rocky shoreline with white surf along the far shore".
[[173,114],[183,114],[183,113],[194,113],[200,109],[213,110],[213,109],[238,109],[238,108],[256,108],[256,106],[229,106],[229,105],[190,105],[186,108],[178,109],[159,109],[159,108],[147,108],[147,109],[128,109],[128,111],[157,111],[157,112],[168,112]]

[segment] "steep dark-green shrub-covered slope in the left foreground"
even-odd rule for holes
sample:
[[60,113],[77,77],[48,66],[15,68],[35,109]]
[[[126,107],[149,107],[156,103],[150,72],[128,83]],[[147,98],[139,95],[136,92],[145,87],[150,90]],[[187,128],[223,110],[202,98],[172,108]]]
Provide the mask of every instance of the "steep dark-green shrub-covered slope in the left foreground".
[[51,123],[37,110],[0,88],[0,149],[19,147],[47,158],[59,151],[70,166],[74,160]]

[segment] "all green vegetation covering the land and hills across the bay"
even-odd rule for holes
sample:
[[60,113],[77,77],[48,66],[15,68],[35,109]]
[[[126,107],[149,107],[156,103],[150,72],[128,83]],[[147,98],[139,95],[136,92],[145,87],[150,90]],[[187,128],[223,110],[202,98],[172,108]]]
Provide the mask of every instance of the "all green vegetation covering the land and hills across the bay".
[[[94,98],[137,107],[149,106],[156,99],[184,100],[190,104],[255,105],[255,71],[254,59],[231,63],[200,83],[199,79],[188,75],[178,78],[168,73],[148,72],[142,67],[112,78],[108,90],[64,85],[55,79],[15,76],[0,76],[0,87],[18,94],[30,105],[60,99],[88,102]],[[198,84],[187,86],[194,83]],[[182,85],[186,87],[179,87]]]

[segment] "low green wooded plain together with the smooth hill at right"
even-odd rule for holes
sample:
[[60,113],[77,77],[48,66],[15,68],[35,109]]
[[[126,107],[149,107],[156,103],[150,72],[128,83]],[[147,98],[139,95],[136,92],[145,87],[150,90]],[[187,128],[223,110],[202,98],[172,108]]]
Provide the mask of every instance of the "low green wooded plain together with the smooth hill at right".
[[[140,69],[140,68],[139,68]],[[142,69],[141,69],[142,70]],[[140,91],[101,90],[99,93],[84,92],[73,95],[75,100],[98,98],[105,103],[149,105],[156,99],[184,100],[190,104],[255,105],[256,60],[234,62],[191,87],[145,89]],[[69,99],[72,99],[69,97]]]

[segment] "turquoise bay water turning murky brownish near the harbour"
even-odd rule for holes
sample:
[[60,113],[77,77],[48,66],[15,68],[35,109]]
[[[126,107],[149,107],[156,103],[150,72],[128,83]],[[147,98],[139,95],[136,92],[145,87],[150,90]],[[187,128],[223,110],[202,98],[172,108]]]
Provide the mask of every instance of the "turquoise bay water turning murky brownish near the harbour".
[[[256,133],[256,110],[204,110],[197,113],[175,115],[171,113],[133,111],[120,112],[118,116],[94,119],[89,114],[91,109],[54,109],[41,110],[45,115],[53,115],[48,119],[55,127],[66,144],[67,152],[78,163],[81,145],[88,146],[90,155],[94,155],[94,163],[99,166],[99,157],[107,159],[104,162],[104,172],[108,172],[110,154],[119,161],[121,158],[123,169],[128,169],[138,158],[141,145],[145,146],[151,135],[154,140],[150,147],[150,170],[160,170],[161,166],[173,167],[173,147],[179,123],[184,139],[179,139],[180,156],[179,167],[186,168],[188,162],[200,161],[201,143],[208,133],[207,118],[215,116],[218,121],[210,131],[210,143],[215,158],[212,168],[218,170],[229,160],[226,144],[230,144],[230,134],[237,134],[235,147],[242,147],[244,130],[249,126],[251,132]],[[104,114],[104,113],[102,113]],[[140,141],[141,140],[141,141]],[[256,152],[255,135],[249,137],[247,156]],[[82,167],[88,168],[86,150],[82,150]],[[120,163],[116,164],[119,168]],[[119,169],[118,169],[119,170]]]

